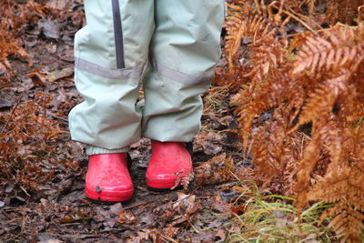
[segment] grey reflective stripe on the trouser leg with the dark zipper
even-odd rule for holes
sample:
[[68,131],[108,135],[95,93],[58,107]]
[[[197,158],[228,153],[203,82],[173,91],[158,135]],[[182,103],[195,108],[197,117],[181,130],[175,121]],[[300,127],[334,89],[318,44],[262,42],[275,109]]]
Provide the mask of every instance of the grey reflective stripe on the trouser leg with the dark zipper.
[[80,71],[85,71],[96,76],[103,76],[110,79],[139,79],[143,72],[143,66],[134,69],[110,69],[103,66],[98,66],[82,58],[76,58],[75,66]]

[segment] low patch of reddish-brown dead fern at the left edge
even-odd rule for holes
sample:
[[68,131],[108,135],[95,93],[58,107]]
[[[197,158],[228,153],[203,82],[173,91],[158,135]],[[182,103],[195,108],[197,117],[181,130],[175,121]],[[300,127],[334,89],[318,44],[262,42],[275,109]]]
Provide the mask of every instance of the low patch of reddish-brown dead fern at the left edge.
[[51,96],[37,92],[34,101],[20,103],[19,100],[20,104],[12,112],[0,115],[0,179],[3,181],[10,179],[26,190],[36,191],[37,186],[53,176],[54,172],[46,173],[42,169],[42,160],[46,154],[56,153],[56,140],[66,131],[56,120],[47,117],[46,108],[51,100]]

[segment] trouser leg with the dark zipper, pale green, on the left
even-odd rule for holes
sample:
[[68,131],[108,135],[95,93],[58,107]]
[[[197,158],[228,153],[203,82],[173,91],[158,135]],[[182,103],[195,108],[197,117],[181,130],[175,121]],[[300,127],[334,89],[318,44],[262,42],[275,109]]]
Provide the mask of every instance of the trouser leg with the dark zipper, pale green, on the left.
[[73,140],[87,153],[125,152],[140,138],[139,80],[154,31],[154,1],[86,0],[76,34],[76,88],[85,102],[69,115]]

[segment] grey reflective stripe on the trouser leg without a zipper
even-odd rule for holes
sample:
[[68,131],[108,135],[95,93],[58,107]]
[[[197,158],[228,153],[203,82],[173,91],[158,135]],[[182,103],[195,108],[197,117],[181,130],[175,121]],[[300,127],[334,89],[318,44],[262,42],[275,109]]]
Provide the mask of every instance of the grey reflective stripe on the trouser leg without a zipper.
[[211,82],[211,77],[206,76],[190,76],[185,73],[179,72],[175,69],[164,66],[160,63],[153,61],[154,70],[163,77],[167,79],[176,81],[178,83],[183,83],[186,85],[209,85]]

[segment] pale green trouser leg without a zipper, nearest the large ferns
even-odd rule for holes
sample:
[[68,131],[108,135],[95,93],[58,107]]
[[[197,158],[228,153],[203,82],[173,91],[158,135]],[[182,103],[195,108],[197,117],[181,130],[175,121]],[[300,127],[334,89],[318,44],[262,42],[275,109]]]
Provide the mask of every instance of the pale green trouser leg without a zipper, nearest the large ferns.
[[156,30],[144,80],[145,137],[190,141],[200,127],[207,90],[220,57],[224,0],[157,0]]

